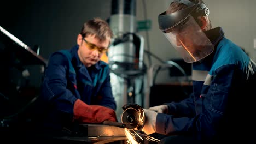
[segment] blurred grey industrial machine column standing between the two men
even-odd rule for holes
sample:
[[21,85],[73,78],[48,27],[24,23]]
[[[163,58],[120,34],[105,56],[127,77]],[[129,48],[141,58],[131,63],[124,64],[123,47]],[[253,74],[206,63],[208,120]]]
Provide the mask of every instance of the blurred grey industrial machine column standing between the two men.
[[143,105],[144,39],[136,33],[136,1],[112,0],[109,25],[114,33],[108,51],[112,90],[117,101],[120,121],[122,106],[128,103]]

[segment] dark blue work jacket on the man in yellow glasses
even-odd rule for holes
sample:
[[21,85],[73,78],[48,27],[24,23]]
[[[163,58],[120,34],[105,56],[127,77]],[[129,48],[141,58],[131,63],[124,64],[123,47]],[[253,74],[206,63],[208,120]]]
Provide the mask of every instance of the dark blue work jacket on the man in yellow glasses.
[[38,100],[45,128],[61,129],[72,123],[77,99],[88,105],[116,109],[108,64],[99,61],[86,68],[79,60],[77,51],[78,45],[70,50],[55,52],[49,58]]

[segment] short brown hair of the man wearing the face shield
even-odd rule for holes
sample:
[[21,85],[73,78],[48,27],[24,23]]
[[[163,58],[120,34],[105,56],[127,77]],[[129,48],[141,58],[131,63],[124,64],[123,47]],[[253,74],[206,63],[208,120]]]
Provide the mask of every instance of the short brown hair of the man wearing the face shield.
[[[193,2],[193,3],[196,3],[196,4],[205,4],[205,2],[203,2],[202,0],[188,0],[190,2]],[[185,8],[188,8],[187,5],[183,4],[183,3],[179,3],[179,2],[172,2],[170,4],[170,6],[168,7],[168,9],[166,10],[166,14],[171,14],[171,13],[174,13],[176,11],[179,11],[179,10],[182,10],[182,9],[185,9]],[[209,29],[212,29],[212,24],[211,24],[211,21],[209,19],[208,16],[205,16],[207,21],[208,21],[208,25],[206,26],[205,30],[209,30]],[[200,16],[199,17],[196,17],[196,22],[199,23],[200,22]],[[200,23],[199,23],[200,25]]]

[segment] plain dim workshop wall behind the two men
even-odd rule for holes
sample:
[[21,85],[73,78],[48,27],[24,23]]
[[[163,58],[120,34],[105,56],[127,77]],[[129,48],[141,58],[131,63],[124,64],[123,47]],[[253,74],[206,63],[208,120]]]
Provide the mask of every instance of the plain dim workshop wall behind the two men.
[[[165,11],[172,0],[137,0],[136,19],[152,22],[148,31],[139,31],[145,40],[145,50],[163,61],[180,59],[162,32],[158,29],[158,15]],[[228,39],[243,47],[256,59],[256,1],[251,0],[205,0],[210,9],[213,27],[221,26]],[[0,3],[0,26],[26,45],[39,45],[39,55],[48,59],[50,54],[69,49],[76,44],[83,23],[92,17],[108,19],[111,0],[44,0],[4,1]],[[146,54],[145,54],[146,55]],[[149,65],[148,57],[144,57]],[[160,63],[152,57],[151,64]],[[159,83],[168,83],[169,72],[158,75]],[[40,76],[31,73],[31,83],[40,86]],[[171,93],[171,92],[170,92]]]

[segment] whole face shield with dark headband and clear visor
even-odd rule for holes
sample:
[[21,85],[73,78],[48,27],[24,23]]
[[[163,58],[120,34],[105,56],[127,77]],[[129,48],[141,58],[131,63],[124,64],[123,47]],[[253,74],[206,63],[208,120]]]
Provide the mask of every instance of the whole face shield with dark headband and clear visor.
[[194,17],[208,15],[204,4],[193,4],[175,13],[159,15],[159,28],[185,62],[200,61],[213,52],[214,46]]

